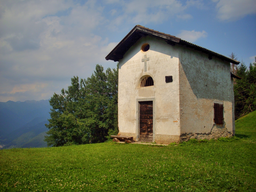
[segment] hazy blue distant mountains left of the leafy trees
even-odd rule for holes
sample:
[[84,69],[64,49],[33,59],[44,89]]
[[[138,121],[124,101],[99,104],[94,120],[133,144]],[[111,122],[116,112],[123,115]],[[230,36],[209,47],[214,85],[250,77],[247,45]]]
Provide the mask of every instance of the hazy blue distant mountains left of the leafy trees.
[[0,102],[0,148],[46,147],[48,100]]

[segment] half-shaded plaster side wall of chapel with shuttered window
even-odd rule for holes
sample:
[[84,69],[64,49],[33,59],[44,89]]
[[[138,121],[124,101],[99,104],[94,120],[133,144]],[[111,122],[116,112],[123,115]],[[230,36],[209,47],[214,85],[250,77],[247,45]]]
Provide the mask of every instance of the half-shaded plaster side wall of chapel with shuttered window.
[[[179,46],[177,46],[178,48]],[[224,122],[233,131],[234,93],[230,66],[217,58],[179,47],[181,133],[208,133],[215,126],[214,103],[223,104]]]

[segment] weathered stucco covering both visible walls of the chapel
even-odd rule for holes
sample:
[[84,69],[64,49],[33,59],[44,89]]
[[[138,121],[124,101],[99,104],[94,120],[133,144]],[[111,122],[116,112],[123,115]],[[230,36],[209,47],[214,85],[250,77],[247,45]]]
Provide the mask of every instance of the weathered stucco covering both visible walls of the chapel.
[[[141,46],[145,43],[150,49],[143,52]],[[146,66],[143,58],[149,59]],[[145,76],[153,78],[154,86],[141,87]],[[172,76],[173,81],[166,83],[165,76]],[[209,59],[202,52],[147,36],[119,60],[118,78],[120,135],[139,140],[140,101],[153,101],[153,141],[156,143],[233,133],[234,95],[228,62]],[[224,106],[223,127],[214,124],[214,103]]]

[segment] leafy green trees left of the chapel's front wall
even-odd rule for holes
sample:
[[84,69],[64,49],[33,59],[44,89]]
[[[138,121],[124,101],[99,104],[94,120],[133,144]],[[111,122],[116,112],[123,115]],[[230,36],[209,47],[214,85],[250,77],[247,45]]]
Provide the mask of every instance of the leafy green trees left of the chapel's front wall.
[[117,133],[116,69],[96,65],[87,79],[71,78],[71,86],[50,99],[51,119],[45,141],[50,146],[103,142]]

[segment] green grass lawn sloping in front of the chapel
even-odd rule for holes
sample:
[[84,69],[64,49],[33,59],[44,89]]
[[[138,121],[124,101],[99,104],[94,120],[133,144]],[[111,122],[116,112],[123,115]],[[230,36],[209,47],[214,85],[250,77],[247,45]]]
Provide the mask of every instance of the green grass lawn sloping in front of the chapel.
[[0,150],[0,191],[256,191],[256,111],[236,137]]

